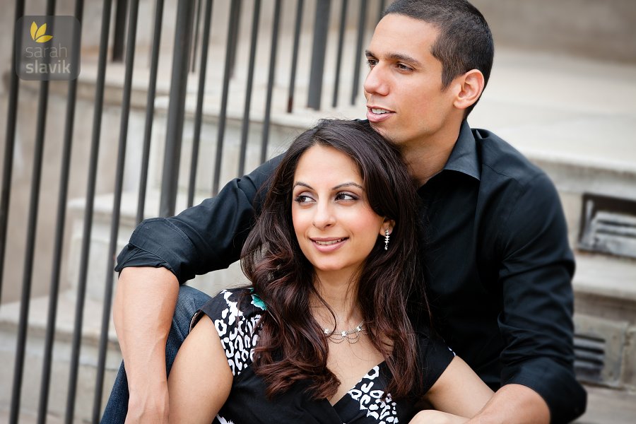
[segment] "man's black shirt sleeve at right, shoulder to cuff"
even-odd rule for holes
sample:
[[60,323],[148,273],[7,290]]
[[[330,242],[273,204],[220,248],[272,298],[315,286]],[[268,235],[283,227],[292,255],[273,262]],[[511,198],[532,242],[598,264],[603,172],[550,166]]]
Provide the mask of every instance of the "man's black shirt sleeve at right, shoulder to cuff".
[[500,284],[505,341],[501,383],[540,394],[553,423],[585,411],[587,395],[575,378],[572,310],[574,259],[558,194],[545,175],[519,187],[501,227]]

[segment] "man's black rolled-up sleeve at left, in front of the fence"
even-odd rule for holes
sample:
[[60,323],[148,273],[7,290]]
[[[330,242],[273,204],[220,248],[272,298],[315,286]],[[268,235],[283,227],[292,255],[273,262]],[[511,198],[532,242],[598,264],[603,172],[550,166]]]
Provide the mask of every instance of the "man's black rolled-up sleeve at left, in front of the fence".
[[117,257],[126,266],[163,266],[184,283],[237,261],[281,157],[225,184],[219,194],[170,218],[143,220]]

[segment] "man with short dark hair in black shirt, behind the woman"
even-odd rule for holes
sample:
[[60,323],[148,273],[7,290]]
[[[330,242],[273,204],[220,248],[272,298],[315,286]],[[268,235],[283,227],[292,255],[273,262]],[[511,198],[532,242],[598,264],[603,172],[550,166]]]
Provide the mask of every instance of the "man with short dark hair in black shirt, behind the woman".
[[[471,423],[576,418],[586,394],[572,365],[574,261],[558,195],[520,153],[466,123],[493,61],[483,16],[463,0],[398,0],[378,23],[367,59],[367,119],[399,146],[420,186],[436,329],[497,391]],[[238,259],[257,190],[275,165],[175,218],[144,221],[120,254],[113,314],[129,422],[167,417],[167,334],[184,337],[187,315],[204,301],[181,289],[183,316],[171,330],[178,282]],[[114,391],[125,384],[120,375]]]

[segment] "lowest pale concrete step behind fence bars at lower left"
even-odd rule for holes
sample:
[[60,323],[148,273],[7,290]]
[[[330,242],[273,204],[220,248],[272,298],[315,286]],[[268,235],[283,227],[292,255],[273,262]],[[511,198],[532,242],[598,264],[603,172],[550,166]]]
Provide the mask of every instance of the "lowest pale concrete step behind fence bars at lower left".
[[[20,422],[22,422],[23,417],[28,420],[30,419],[29,417],[33,417],[37,413],[48,305],[49,299],[47,297],[33,298],[30,302],[28,336],[24,358],[25,367],[20,398],[20,408],[23,411],[23,416],[20,416]],[[61,420],[66,411],[75,308],[75,292],[65,292],[59,295],[48,404],[49,415],[54,418],[52,422],[56,422],[55,419]],[[11,405],[11,382],[13,382],[19,310],[19,302],[6,303],[0,308],[0,363],[3,364],[0,367],[0,381],[6,382],[6,384],[0,384],[0,411],[8,411],[8,407]],[[92,416],[101,317],[102,302],[95,302],[90,298],[87,299],[83,315],[76,390],[75,418],[78,422],[88,422]],[[102,408],[105,406],[107,396],[110,394],[110,388],[121,360],[119,345],[111,324],[107,344]],[[4,422],[1,419],[2,414],[0,413],[0,421]]]

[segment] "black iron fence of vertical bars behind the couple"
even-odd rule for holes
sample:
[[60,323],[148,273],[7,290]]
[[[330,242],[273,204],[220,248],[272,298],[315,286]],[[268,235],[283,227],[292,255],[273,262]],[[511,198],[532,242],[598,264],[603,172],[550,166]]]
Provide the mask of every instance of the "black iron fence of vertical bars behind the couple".
[[[117,236],[119,231],[120,209],[122,207],[122,187],[124,184],[124,169],[126,162],[126,141],[129,134],[129,116],[131,114],[131,93],[133,92],[133,73],[134,61],[139,57],[136,51],[138,43],[136,37],[139,33],[138,22],[139,16],[139,0],[118,0],[113,5],[112,0],[103,0],[99,5],[97,1],[85,2],[76,0],[74,2],[73,15],[82,22],[86,12],[90,16],[95,15],[95,10],[99,8],[97,13],[101,13],[100,39],[97,55],[96,77],[94,83],[94,112],[92,121],[92,132],[90,136],[90,151],[88,153],[88,174],[86,175],[86,192],[85,205],[83,209],[83,230],[81,237],[80,258],[78,261],[78,278],[76,289],[76,309],[75,324],[72,337],[72,348],[69,358],[70,371],[68,378],[68,394],[66,396],[66,412],[64,420],[71,423],[76,415],[76,393],[78,386],[78,367],[81,352],[82,326],[84,309],[86,303],[86,290],[88,285],[93,281],[89,281],[90,261],[90,240],[93,231],[93,215],[94,201],[96,196],[96,180],[98,178],[98,163],[100,155],[100,140],[103,132],[102,117],[104,114],[105,103],[105,86],[106,86],[106,70],[109,64],[109,53],[111,61],[124,61],[124,75],[122,83],[122,98],[119,102],[121,107],[119,121],[119,143],[117,146],[117,164],[114,169],[114,187],[112,189],[112,217],[110,225],[110,244],[107,252],[107,270],[105,278],[105,292],[103,294],[104,307],[102,313],[101,335],[99,342],[99,357],[97,363],[97,372],[95,379],[94,401],[93,401],[93,423],[98,422],[102,410],[102,394],[105,389],[104,375],[108,341],[108,327],[110,323],[110,307],[112,301],[112,281],[114,266],[114,256],[117,253]],[[143,2],[142,2],[143,3]],[[187,205],[194,203],[195,183],[197,175],[197,162],[199,158],[199,146],[201,143],[201,127],[204,121],[204,102],[206,102],[206,85],[210,85],[210,81],[206,81],[208,66],[211,61],[208,59],[209,43],[211,41],[211,25],[213,23],[213,13],[216,12],[217,6],[227,6],[227,2],[212,0],[197,1],[177,1],[167,2],[176,9],[176,16],[165,16],[165,4],[163,0],[149,1],[153,10],[152,16],[141,16],[145,23],[152,26],[152,42],[150,46],[150,58],[148,60],[148,85],[146,90],[146,117],[143,127],[143,136],[135,134],[135,136],[143,137],[143,148],[141,153],[141,162],[139,163],[139,189],[137,191],[138,203],[136,207],[136,221],[142,220],[146,209],[146,192],[148,189],[148,167],[151,151],[151,140],[153,134],[153,124],[155,121],[155,96],[157,94],[158,76],[160,75],[160,39],[161,37],[172,37],[174,40],[171,56],[171,73],[170,73],[170,92],[169,102],[167,106],[166,129],[165,129],[165,151],[163,152],[163,171],[162,182],[160,184],[160,207],[158,214],[160,216],[170,216],[175,213],[175,202],[178,191],[178,175],[179,160],[182,153],[182,136],[184,132],[184,112],[185,102],[188,90],[189,74],[198,74],[196,78],[196,111],[194,112],[194,134],[192,136],[192,163],[189,166],[189,179],[187,183]],[[262,3],[262,4],[261,4]],[[332,4],[333,3],[333,4]],[[114,7],[115,6],[115,7]],[[246,151],[247,139],[249,137],[250,111],[252,110],[252,93],[254,83],[254,71],[257,69],[255,57],[258,49],[259,34],[262,34],[261,14],[264,6],[273,8],[273,18],[268,21],[269,35],[271,42],[269,43],[269,64],[267,66],[268,78],[266,84],[264,117],[262,118],[261,133],[261,162],[266,160],[268,151],[271,114],[273,107],[273,87],[275,83],[276,66],[290,66],[288,95],[283,100],[284,105],[279,106],[288,113],[294,113],[295,108],[298,109],[299,102],[305,102],[307,107],[315,110],[321,108],[323,77],[325,71],[325,52],[329,33],[330,18],[336,15],[334,11],[339,11],[337,25],[337,43],[336,49],[336,69],[333,84],[333,96],[331,107],[338,106],[339,90],[348,84],[341,84],[343,78],[353,78],[351,82],[351,103],[359,97],[360,73],[363,69],[360,67],[363,63],[363,45],[365,37],[369,37],[369,22],[375,22],[379,18],[384,1],[366,1],[348,0],[334,1],[331,0],[231,0],[227,20],[225,20],[227,40],[225,45],[225,59],[219,64],[218,58],[214,58],[214,66],[223,66],[223,78],[221,83],[220,107],[218,110],[216,139],[213,134],[206,134],[206,142],[216,143],[216,156],[210,162],[214,163],[213,182],[211,184],[212,193],[216,194],[221,181],[220,167],[223,160],[223,146],[226,131],[226,121],[228,119],[228,98],[230,96],[230,80],[234,75],[234,69],[238,65],[236,59],[236,51],[238,40],[242,36],[249,36],[249,63],[247,64],[247,80],[245,81],[245,102],[242,114],[242,126],[240,137],[240,160],[237,166],[236,175],[242,175],[246,171]],[[339,8],[337,8],[339,6]],[[332,11],[332,8],[336,8]],[[226,8],[223,8],[226,10]],[[288,31],[289,37],[293,37],[291,42],[291,51],[285,52],[285,58],[291,60],[288,63],[281,61],[279,38],[281,37],[281,15],[283,12],[290,13],[293,18],[293,25]],[[290,12],[293,11],[293,12]],[[48,0],[45,8],[38,11],[40,15],[54,16],[56,15],[56,1]],[[25,13],[25,1],[17,0],[15,4],[15,20],[18,21]],[[241,29],[240,17],[244,13],[251,14],[252,28]],[[308,83],[307,99],[298,99],[295,91],[296,77],[299,61],[299,40],[302,31],[302,18],[305,14],[314,15],[314,28],[312,28],[312,55],[310,69],[310,78]],[[162,33],[167,20],[175,19],[175,32]],[[113,33],[110,33],[112,21],[114,21]],[[343,45],[345,43],[345,33],[347,26],[355,26],[355,57],[351,58],[354,62],[353,75],[351,73],[342,73]],[[86,32],[84,32],[86,34]],[[13,40],[15,42],[16,40]],[[8,40],[6,40],[8,42]],[[13,49],[13,45],[8,46]],[[11,200],[11,189],[13,175],[13,159],[15,157],[16,134],[19,132],[18,127],[18,100],[20,95],[20,79],[13,70],[16,62],[16,52],[13,49],[13,58],[11,61],[11,70],[8,70],[8,93],[7,99],[7,118],[6,118],[6,142],[4,145],[4,163],[2,167],[2,186],[0,197],[0,295],[3,285],[17,285],[19,282],[5,281],[6,275],[5,258],[7,249],[13,249],[8,245],[8,228],[13,225],[9,220],[9,206]],[[341,75],[342,73],[342,75]],[[81,77],[80,77],[81,79]],[[192,81],[192,78],[190,78]],[[216,81],[215,81],[216,82]],[[76,122],[76,105],[78,96],[78,81],[68,81],[66,94],[66,112],[64,121],[64,134],[61,137],[60,146],[60,175],[59,187],[57,192],[57,210],[54,212],[56,221],[54,224],[54,242],[50,252],[49,261],[52,261],[52,271],[50,274],[50,283],[47,289],[49,307],[46,319],[45,343],[42,360],[42,373],[40,381],[40,395],[37,406],[37,421],[44,423],[47,419],[47,411],[49,410],[49,391],[51,389],[51,372],[52,372],[52,351],[55,338],[55,323],[57,318],[58,298],[60,290],[60,281],[62,273],[62,261],[64,256],[64,243],[68,237],[65,237],[67,229],[65,223],[67,220],[68,201],[69,201],[69,172],[71,171],[71,155],[73,149],[76,148],[76,140],[73,140],[73,130]],[[39,83],[39,95],[37,100],[37,116],[33,121],[35,125],[35,143],[33,146],[33,170],[30,179],[30,200],[28,201],[28,219],[25,228],[25,248],[23,259],[23,272],[21,278],[21,295],[19,317],[17,324],[17,341],[15,350],[15,363],[13,370],[13,383],[11,387],[11,410],[10,423],[17,423],[20,417],[20,394],[23,387],[23,375],[25,365],[25,349],[27,344],[28,317],[31,302],[31,289],[33,284],[34,269],[34,252],[36,237],[38,234],[38,211],[40,209],[40,199],[42,199],[42,167],[45,158],[45,139],[52,136],[46,131],[47,112],[49,101],[49,81],[41,81]],[[304,107],[304,106],[303,106]],[[11,264],[13,268],[15,264]],[[0,301],[2,299],[0,298]],[[6,304],[6,302],[5,302]],[[3,305],[0,305],[0,308]],[[4,383],[5,384],[5,383]],[[8,382],[6,382],[8,384]],[[106,388],[107,389],[107,388]]]

